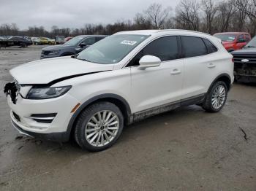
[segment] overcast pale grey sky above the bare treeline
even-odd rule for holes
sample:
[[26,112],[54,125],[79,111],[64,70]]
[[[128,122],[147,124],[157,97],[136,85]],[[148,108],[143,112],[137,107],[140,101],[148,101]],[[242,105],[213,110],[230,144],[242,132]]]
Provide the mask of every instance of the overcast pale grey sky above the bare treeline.
[[176,7],[179,0],[0,0],[0,25],[80,28],[85,23],[106,24],[132,20],[150,4]]

